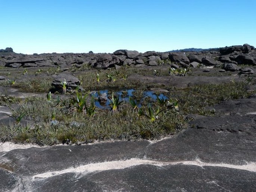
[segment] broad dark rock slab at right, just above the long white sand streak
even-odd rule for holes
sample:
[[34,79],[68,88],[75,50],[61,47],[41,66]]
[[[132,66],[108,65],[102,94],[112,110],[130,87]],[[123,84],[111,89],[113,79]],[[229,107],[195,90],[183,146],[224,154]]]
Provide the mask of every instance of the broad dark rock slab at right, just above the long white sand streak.
[[173,139],[149,146],[146,157],[162,161],[189,161],[199,158],[203,162],[233,165],[254,162],[255,115],[204,117],[197,118],[190,124],[193,128],[183,131]]

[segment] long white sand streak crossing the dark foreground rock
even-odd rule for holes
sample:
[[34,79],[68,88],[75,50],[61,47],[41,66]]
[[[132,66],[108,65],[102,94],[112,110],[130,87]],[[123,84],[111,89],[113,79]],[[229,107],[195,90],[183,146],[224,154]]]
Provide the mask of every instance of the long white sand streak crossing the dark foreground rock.
[[215,163],[206,163],[197,161],[178,161],[178,162],[162,162],[162,161],[151,161],[151,160],[143,160],[143,159],[130,159],[130,160],[121,160],[121,161],[107,161],[107,162],[99,162],[99,163],[92,163],[87,165],[82,165],[76,168],[68,168],[62,171],[52,171],[42,174],[37,174],[33,176],[33,179],[40,179],[40,178],[48,178],[57,176],[60,174],[65,173],[83,173],[88,174],[95,171],[106,171],[106,170],[115,170],[115,169],[123,169],[128,168],[136,165],[155,165],[155,166],[165,166],[165,165],[196,165],[196,166],[213,166],[213,167],[226,167],[226,168],[235,168],[240,170],[247,170],[256,172],[256,163],[251,162],[247,165],[230,165],[230,164],[215,164]]

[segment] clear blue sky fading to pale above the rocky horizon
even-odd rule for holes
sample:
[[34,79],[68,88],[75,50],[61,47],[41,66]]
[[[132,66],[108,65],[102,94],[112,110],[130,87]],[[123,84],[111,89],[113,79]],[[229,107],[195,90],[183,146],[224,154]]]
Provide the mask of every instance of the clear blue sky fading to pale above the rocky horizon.
[[159,52],[251,44],[256,0],[0,0],[0,49]]

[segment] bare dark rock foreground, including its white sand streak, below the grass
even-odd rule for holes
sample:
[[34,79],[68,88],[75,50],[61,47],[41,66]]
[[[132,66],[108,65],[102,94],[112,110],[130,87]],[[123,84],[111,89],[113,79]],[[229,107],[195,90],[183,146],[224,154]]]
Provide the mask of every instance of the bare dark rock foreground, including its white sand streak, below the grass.
[[1,143],[0,191],[255,191],[256,96],[214,108],[154,142]]

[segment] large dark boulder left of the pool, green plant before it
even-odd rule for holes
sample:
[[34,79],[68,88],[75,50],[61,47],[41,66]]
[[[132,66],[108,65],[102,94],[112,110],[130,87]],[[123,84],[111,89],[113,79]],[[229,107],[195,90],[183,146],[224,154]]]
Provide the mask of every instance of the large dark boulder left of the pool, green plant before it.
[[55,77],[52,82],[52,86],[55,87],[55,91],[62,89],[62,83],[66,81],[67,90],[74,90],[81,84],[81,81],[72,74],[61,73]]

